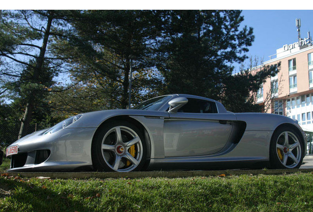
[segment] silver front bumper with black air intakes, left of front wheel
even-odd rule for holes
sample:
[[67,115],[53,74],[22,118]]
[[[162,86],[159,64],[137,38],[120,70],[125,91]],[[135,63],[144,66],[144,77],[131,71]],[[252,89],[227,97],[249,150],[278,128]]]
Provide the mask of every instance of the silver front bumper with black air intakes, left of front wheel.
[[18,145],[8,172],[73,171],[92,167],[91,146],[96,128],[65,128],[51,134],[35,132],[10,146]]

